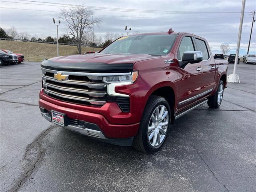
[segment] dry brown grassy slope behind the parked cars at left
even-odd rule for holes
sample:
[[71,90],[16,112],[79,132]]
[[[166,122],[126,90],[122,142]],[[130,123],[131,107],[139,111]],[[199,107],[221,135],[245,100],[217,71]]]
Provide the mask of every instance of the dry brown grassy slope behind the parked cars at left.
[[[57,45],[46,43],[19,42],[0,40],[0,49],[7,49],[24,55],[25,61],[42,61],[57,56]],[[92,51],[93,48],[82,47],[82,53]],[[94,48],[98,51],[100,48]],[[59,55],[78,54],[76,46],[59,45]]]

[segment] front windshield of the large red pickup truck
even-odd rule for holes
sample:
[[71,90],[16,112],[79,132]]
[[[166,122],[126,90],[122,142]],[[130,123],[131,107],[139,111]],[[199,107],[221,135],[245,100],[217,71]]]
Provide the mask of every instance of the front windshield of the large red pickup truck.
[[100,53],[165,55],[170,52],[176,34],[123,36]]

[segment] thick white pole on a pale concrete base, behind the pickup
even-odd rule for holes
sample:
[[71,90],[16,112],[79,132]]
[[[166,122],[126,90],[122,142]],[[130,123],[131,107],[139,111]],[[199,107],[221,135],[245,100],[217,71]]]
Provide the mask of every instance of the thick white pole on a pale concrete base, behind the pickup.
[[230,82],[230,83],[240,83],[239,75],[236,74],[236,67],[237,67],[237,63],[238,63],[238,54],[239,54],[242,27],[243,27],[243,21],[244,21],[244,7],[245,7],[245,0],[243,0],[243,2],[242,2],[242,10],[241,10],[238,40],[237,40],[237,46],[236,46],[236,58],[235,58],[235,64],[234,64],[234,71],[233,71],[233,74],[230,74],[228,77],[228,82]]

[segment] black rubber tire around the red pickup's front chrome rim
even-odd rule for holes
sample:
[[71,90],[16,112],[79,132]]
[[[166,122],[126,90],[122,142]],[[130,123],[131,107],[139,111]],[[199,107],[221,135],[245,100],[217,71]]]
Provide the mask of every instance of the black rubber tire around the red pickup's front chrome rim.
[[[163,140],[158,143],[158,146],[153,147],[152,144],[150,144],[150,141],[148,140],[148,126],[149,126],[150,122],[152,122],[151,117],[152,117],[153,112],[156,110],[156,108],[161,107],[161,106],[164,106],[166,111],[168,112],[168,120],[165,119],[166,122],[168,122],[168,125],[165,126],[165,128],[167,128],[167,130],[166,130],[166,134],[164,134]],[[167,117],[167,115],[166,115],[166,117]],[[166,101],[166,99],[161,96],[154,96],[154,95],[150,96],[150,98],[148,99],[148,102],[146,104],[146,107],[144,109],[142,119],[140,121],[140,128],[138,130],[138,134],[134,137],[132,146],[136,150],[141,151],[143,153],[147,153],[147,154],[151,154],[153,152],[158,151],[162,147],[162,145],[164,144],[164,141],[166,140],[166,138],[168,136],[168,132],[170,130],[170,124],[171,124],[171,110],[170,110],[170,106],[169,106],[168,102]],[[157,123],[157,125],[158,125],[158,123]],[[156,130],[154,130],[154,131],[156,131]],[[154,134],[154,136],[155,136],[155,134]],[[154,136],[152,136],[152,138]],[[163,134],[161,135],[161,137],[162,136],[163,136]]]

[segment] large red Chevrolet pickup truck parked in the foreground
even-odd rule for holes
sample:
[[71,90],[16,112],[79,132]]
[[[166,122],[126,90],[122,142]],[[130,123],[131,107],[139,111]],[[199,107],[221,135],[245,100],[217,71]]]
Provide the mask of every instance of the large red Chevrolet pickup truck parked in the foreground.
[[[222,102],[228,63],[189,33],[134,34],[98,53],[44,60],[39,106],[48,121],[152,153],[174,120]],[[202,125],[203,126],[203,125]]]

